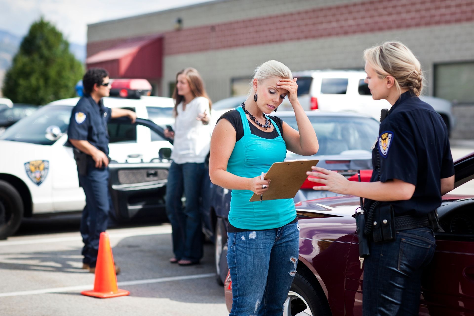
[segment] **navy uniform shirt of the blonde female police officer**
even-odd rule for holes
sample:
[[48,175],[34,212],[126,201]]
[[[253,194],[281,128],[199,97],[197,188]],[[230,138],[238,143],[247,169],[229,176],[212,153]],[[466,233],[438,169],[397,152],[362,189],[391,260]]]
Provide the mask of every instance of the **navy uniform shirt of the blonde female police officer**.
[[380,175],[381,182],[398,179],[415,185],[411,199],[382,202],[380,206],[392,204],[396,216],[420,216],[438,208],[441,179],[454,175],[443,119],[411,91],[403,93],[380,124],[372,163],[371,182],[379,181]]

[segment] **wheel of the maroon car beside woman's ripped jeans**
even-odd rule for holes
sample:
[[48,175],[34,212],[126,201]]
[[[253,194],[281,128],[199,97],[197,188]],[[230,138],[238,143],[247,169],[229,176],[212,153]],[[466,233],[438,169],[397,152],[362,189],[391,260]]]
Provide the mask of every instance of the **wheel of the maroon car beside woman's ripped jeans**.
[[284,303],[283,316],[330,316],[323,290],[308,271],[298,271]]

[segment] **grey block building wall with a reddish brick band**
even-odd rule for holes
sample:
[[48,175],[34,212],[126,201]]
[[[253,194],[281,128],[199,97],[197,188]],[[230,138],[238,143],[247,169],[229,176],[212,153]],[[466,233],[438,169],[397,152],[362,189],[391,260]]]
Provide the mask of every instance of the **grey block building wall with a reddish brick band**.
[[[180,31],[172,29],[176,17],[183,19]],[[158,33],[165,43],[165,96],[185,67],[201,72],[217,101],[230,95],[232,78],[249,77],[267,60],[293,71],[362,68],[364,49],[387,40],[405,43],[419,57],[424,93],[432,95],[433,64],[474,61],[474,1],[221,0],[91,25],[88,54],[127,36]],[[468,125],[464,117],[458,117],[460,126]],[[472,133],[463,128],[454,134]]]

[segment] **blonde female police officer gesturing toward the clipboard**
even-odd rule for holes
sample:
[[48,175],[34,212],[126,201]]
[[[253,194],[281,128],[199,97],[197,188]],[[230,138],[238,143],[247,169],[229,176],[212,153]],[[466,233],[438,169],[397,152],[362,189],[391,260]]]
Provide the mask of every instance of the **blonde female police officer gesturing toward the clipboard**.
[[[365,260],[364,315],[418,315],[421,271],[436,247],[431,223],[441,196],[454,187],[447,127],[418,96],[420,63],[405,45],[387,42],[364,52],[374,100],[392,108],[374,144],[370,183],[313,167],[329,190],[365,198],[370,255]],[[372,213],[372,214],[371,214]],[[367,232],[367,230],[365,230]],[[360,233],[359,233],[360,234]]]

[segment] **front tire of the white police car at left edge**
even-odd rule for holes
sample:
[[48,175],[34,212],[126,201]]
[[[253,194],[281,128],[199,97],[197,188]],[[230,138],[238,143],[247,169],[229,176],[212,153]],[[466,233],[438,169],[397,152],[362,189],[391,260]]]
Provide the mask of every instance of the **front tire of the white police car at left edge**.
[[18,191],[0,180],[0,239],[15,234],[23,219],[23,201]]

